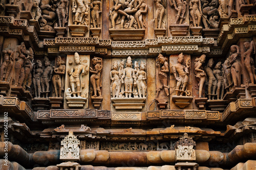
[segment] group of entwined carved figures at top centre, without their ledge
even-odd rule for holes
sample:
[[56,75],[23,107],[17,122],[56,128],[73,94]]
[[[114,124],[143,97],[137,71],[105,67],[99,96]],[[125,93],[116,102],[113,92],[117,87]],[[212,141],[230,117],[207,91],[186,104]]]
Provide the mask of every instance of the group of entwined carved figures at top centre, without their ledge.
[[[113,0],[114,6],[110,9],[109,17],[111,28],[120,24],[120,29],[146,28],[147,5],[144,0]],[[120,18],[120,19],[119,19]]]

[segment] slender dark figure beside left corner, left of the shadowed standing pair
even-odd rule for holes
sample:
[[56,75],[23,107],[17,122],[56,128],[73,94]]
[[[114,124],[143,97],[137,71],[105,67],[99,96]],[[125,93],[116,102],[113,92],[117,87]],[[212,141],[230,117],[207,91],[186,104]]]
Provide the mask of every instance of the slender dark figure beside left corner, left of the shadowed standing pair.
[[30,89],[32,85],[32,70],[33,70],[33,59],[34,59],[34,52],[31,47],[29,47],[29,59],[26,60],[25,65],[24,65],[24,72],[25,72],[25,77],[23,81],[23,88]]

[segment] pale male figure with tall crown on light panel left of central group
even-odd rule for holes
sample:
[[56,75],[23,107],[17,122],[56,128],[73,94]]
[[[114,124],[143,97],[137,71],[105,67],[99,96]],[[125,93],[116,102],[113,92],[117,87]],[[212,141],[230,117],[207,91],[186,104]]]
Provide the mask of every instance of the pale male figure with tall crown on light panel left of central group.
[[68,74],[69,77],[69,83],[72,90],[73,97],[80,96],[80,93],[82,91],[82,76],[88,74],[88,70],[86,69],[86,66],[81,64],[81,59],[78,53],[75,53],[75,66],[72,67]]

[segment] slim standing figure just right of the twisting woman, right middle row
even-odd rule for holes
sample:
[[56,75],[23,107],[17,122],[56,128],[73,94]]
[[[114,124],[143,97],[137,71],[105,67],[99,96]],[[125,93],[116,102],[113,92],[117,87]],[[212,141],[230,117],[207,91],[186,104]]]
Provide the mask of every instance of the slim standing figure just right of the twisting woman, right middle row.
[[208,78],[208,99],[214,100],[214,97],[216,96],[216,88],[217,88],[217,80],[214,76],[214,73],[212,72],[212,67],[214,66],[214,59],[209,59],[208,64],[205,68],[205,72]]

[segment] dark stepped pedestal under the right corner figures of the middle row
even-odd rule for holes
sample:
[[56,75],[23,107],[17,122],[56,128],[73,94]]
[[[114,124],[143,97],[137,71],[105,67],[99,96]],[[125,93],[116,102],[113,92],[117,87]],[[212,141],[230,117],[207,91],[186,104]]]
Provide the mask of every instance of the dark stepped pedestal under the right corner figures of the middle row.
[[228,103],[237,101],[237,99],[242,99],[245,96],[245,88],[243,87],[236,87],[233,91],[226,92],[223,97],[223,100],[227,100]]

